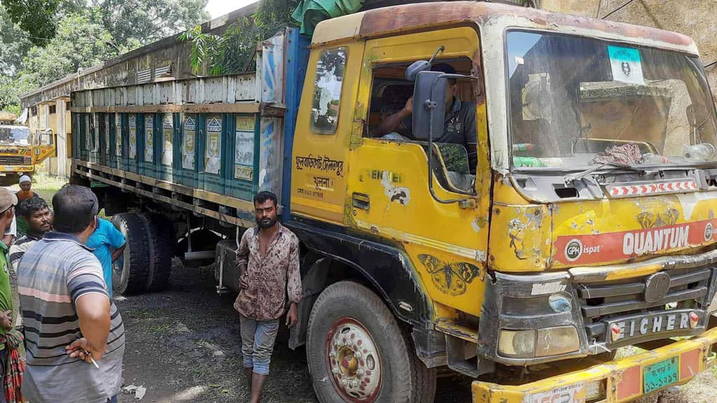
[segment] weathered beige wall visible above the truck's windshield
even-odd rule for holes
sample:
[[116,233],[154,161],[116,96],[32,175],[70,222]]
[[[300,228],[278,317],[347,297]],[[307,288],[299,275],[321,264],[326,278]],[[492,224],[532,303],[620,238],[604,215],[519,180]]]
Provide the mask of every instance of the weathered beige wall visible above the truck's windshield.
[[[628,0],[541,0],[540,6],[565,14],[680,32],[694,39],[704,65],[717,61],[717,0],[632,0],[629,4]],[[717,64],[706,68],[706,72],[717,99]]]

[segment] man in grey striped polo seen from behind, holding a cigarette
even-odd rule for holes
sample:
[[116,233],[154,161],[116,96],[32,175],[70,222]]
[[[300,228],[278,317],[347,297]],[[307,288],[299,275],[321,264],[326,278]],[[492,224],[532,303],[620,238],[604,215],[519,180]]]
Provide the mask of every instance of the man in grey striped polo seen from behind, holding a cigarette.
[[32,403],[117,402],[125,329],[102,266],[85,246],[98,225],[97,197],[84,186],[65,186],[52,207],[54,232],[18,266],[27,341],[22,393]]

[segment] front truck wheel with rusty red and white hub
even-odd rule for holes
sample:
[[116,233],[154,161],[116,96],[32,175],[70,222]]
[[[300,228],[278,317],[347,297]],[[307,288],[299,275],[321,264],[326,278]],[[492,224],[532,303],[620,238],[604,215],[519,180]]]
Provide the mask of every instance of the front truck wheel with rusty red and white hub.
[[351,281],[328,286],[313,305],[306,358],[319,402],[433,402],[436,371],[378,295]]

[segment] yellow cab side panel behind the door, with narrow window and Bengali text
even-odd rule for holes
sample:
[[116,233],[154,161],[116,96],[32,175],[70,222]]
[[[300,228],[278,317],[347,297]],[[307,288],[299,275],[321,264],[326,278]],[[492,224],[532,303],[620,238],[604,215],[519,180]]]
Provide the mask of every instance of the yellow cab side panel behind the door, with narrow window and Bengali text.
[[296,121],[291,213],[343,225],[363,41],[311,50]]

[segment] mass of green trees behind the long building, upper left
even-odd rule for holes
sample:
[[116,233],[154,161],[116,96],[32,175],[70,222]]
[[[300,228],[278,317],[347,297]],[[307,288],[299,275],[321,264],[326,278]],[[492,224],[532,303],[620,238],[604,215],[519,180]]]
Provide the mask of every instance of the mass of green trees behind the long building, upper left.
[[206,21],[206,1],[0,0],[0,110],[19,113],[22,93]]

